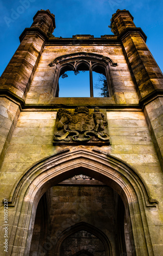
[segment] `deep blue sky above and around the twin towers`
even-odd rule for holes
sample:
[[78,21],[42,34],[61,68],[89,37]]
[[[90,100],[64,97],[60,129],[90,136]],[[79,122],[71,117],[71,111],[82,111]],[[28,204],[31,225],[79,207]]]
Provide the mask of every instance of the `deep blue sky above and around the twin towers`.
[[112,34],[108,28],[112,14],[117,9],[129,10],[135,25],[147,35],[147,46],[163,70],[162,0],[0,0],[0,75],[19,46],[19,35],[25,27],[31,26],[33,16],[41,9],[49,9],[55,14],[56,29],[53,34],[62,37]]

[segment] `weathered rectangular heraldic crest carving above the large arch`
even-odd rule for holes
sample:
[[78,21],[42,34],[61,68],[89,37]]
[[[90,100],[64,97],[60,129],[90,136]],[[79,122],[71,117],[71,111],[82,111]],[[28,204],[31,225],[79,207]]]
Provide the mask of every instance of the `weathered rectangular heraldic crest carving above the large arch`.
[[106,110],[100,110],[97,106],[94,110],[89,110],[87,106],[58,110],[53,144],[108,145],[109,139]]

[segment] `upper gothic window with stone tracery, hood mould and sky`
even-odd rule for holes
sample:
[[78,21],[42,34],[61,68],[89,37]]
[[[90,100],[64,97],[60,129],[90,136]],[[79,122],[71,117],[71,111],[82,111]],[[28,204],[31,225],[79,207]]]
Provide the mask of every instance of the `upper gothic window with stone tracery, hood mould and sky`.
[[[110,58],[99,54],[77,53],[56,58],[53,97],[111,97],[113,82]],[[73,79],[72,79],[73,77]]]

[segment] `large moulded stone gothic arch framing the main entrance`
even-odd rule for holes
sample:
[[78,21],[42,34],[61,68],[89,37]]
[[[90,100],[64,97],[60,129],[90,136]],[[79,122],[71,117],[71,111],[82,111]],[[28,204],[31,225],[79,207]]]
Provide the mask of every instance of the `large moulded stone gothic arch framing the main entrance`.
[[[126,210],[129,208],[136,254],[148,255],[151,240],[145,209],[155,206],[156,200],[151,199],[145,182],[131,166],[105,152],[88,150],[83,146],[42,159],[26,170],[15,184],[10,199],[15,204],[13,226],[17,228],[11,231],[9,244],[13,247],[10,253],[28,254],[41,196],[51,186],[77,174],[91,176],[117,191]],[[13,241],[13,238],[16,239]],[[150,255],[153,255],[153,250]]]

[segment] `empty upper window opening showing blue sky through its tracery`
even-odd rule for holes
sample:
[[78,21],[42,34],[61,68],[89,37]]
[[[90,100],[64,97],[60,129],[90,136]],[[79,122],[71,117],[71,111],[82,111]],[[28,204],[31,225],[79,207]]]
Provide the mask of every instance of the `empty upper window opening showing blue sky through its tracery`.
[[56,97],[110,97],[105,69],[86,63],[62,69]]

